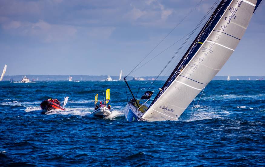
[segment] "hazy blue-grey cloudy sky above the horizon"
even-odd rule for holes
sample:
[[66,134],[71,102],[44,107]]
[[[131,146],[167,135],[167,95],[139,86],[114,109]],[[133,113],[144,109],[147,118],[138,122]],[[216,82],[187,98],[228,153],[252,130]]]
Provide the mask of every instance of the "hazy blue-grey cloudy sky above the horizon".
[[[199,2],[1,0],[0,68],[7,64],[6,75],[118,76],[120,70],[126,75]],[[191,32],[214,2],[203,0],[143,63]],[[217,76],[265,76],[264,15],[263,1],[237,49]],[[183,41],[131,75],[158,75]],[[172,72],[187,50],[185,47],[162,76]]]

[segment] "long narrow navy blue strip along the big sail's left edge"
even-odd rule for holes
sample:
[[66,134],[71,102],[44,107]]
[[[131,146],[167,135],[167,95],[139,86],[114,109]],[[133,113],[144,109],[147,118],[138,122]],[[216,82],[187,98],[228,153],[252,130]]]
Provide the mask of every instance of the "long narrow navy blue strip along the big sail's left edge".
[[[165,90],[173,83],[176,77],[180,74],[181,70],[190,62],[194,57],[195,53],[200,48],[200,43],[204,43],[205,39],[208,37],[210,32],[214,29],[214,26],[220,20],[221,16],[224,14],[226,8],[229,6],[232,0],[222,0],[217,8],[214,10],[213,14],[210,16],[198,36],[195,38],[194,42],[191,44],[187,52],[182,57],[181,61],[177,64],[176,68],[173,70],[171,75],[168,77],[167,81],[162,87],[162,90],[156,95],[148,109],[157,101],[157,99],[164,93]],[[200,42],[200,43],[199,43]]]

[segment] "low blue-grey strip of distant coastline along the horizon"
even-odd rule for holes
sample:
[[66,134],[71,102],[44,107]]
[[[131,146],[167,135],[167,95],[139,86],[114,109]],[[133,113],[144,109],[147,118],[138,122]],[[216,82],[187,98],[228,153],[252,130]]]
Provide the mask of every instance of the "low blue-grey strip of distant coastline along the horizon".
[[[3,78],[3,81],[13,79],[14,81],[20,81],[24,75],[6,75]],[[94,76],[94,75],[70,75],[73,77],[72,80],[78,80],[78,81],[100,81],[105,80],[108,76],[107,75],[100,75],[100,76]],[[29,78],[29,80],[39,80],[39,81],[66,81],[69,78],[69,75],[26,75],[26,77]],[[112,80],[119,80],[119,76],[111,76]],[[156,76],[145,76],[145,77],[136,77],[140,80],[154,80]],[[168,76],[165,77],[158,77],[157,80],[167,80]],[[231,80],[256,80],[264,78],[265,76],[230,76]],[[132,76],[128,76],[126,78],[127,80],[132,80]],[[215,76],[213,80],[227,80],[227,76]]]

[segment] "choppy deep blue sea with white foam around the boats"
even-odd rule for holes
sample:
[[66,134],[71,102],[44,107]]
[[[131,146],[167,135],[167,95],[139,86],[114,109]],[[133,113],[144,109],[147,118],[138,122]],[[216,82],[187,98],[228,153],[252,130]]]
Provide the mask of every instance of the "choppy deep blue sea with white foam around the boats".
[[[153,85],[154,94],[163,83]],[[129,84],[143,94],[150,82]],[[106,88],[113,114],[95,119],[94,95],[103,99]],[[41,101],[64,96],[67,111],[41,114]],[[179,121],[128,122],[126,102],[122,81],[0,82],[0,164],[265,165],[265,81],[211,81],[191,121],[192,105]]]

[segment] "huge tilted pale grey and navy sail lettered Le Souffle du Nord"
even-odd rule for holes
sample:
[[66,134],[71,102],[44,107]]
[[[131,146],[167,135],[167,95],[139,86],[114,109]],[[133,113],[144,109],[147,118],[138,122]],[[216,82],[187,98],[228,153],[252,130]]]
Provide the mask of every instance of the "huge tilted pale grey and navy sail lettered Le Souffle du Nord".
[[[143,115],[176,121],[219,72],[241,40],[261,0],[222,0]],[[257,4],[257,5],[256,5]]]

